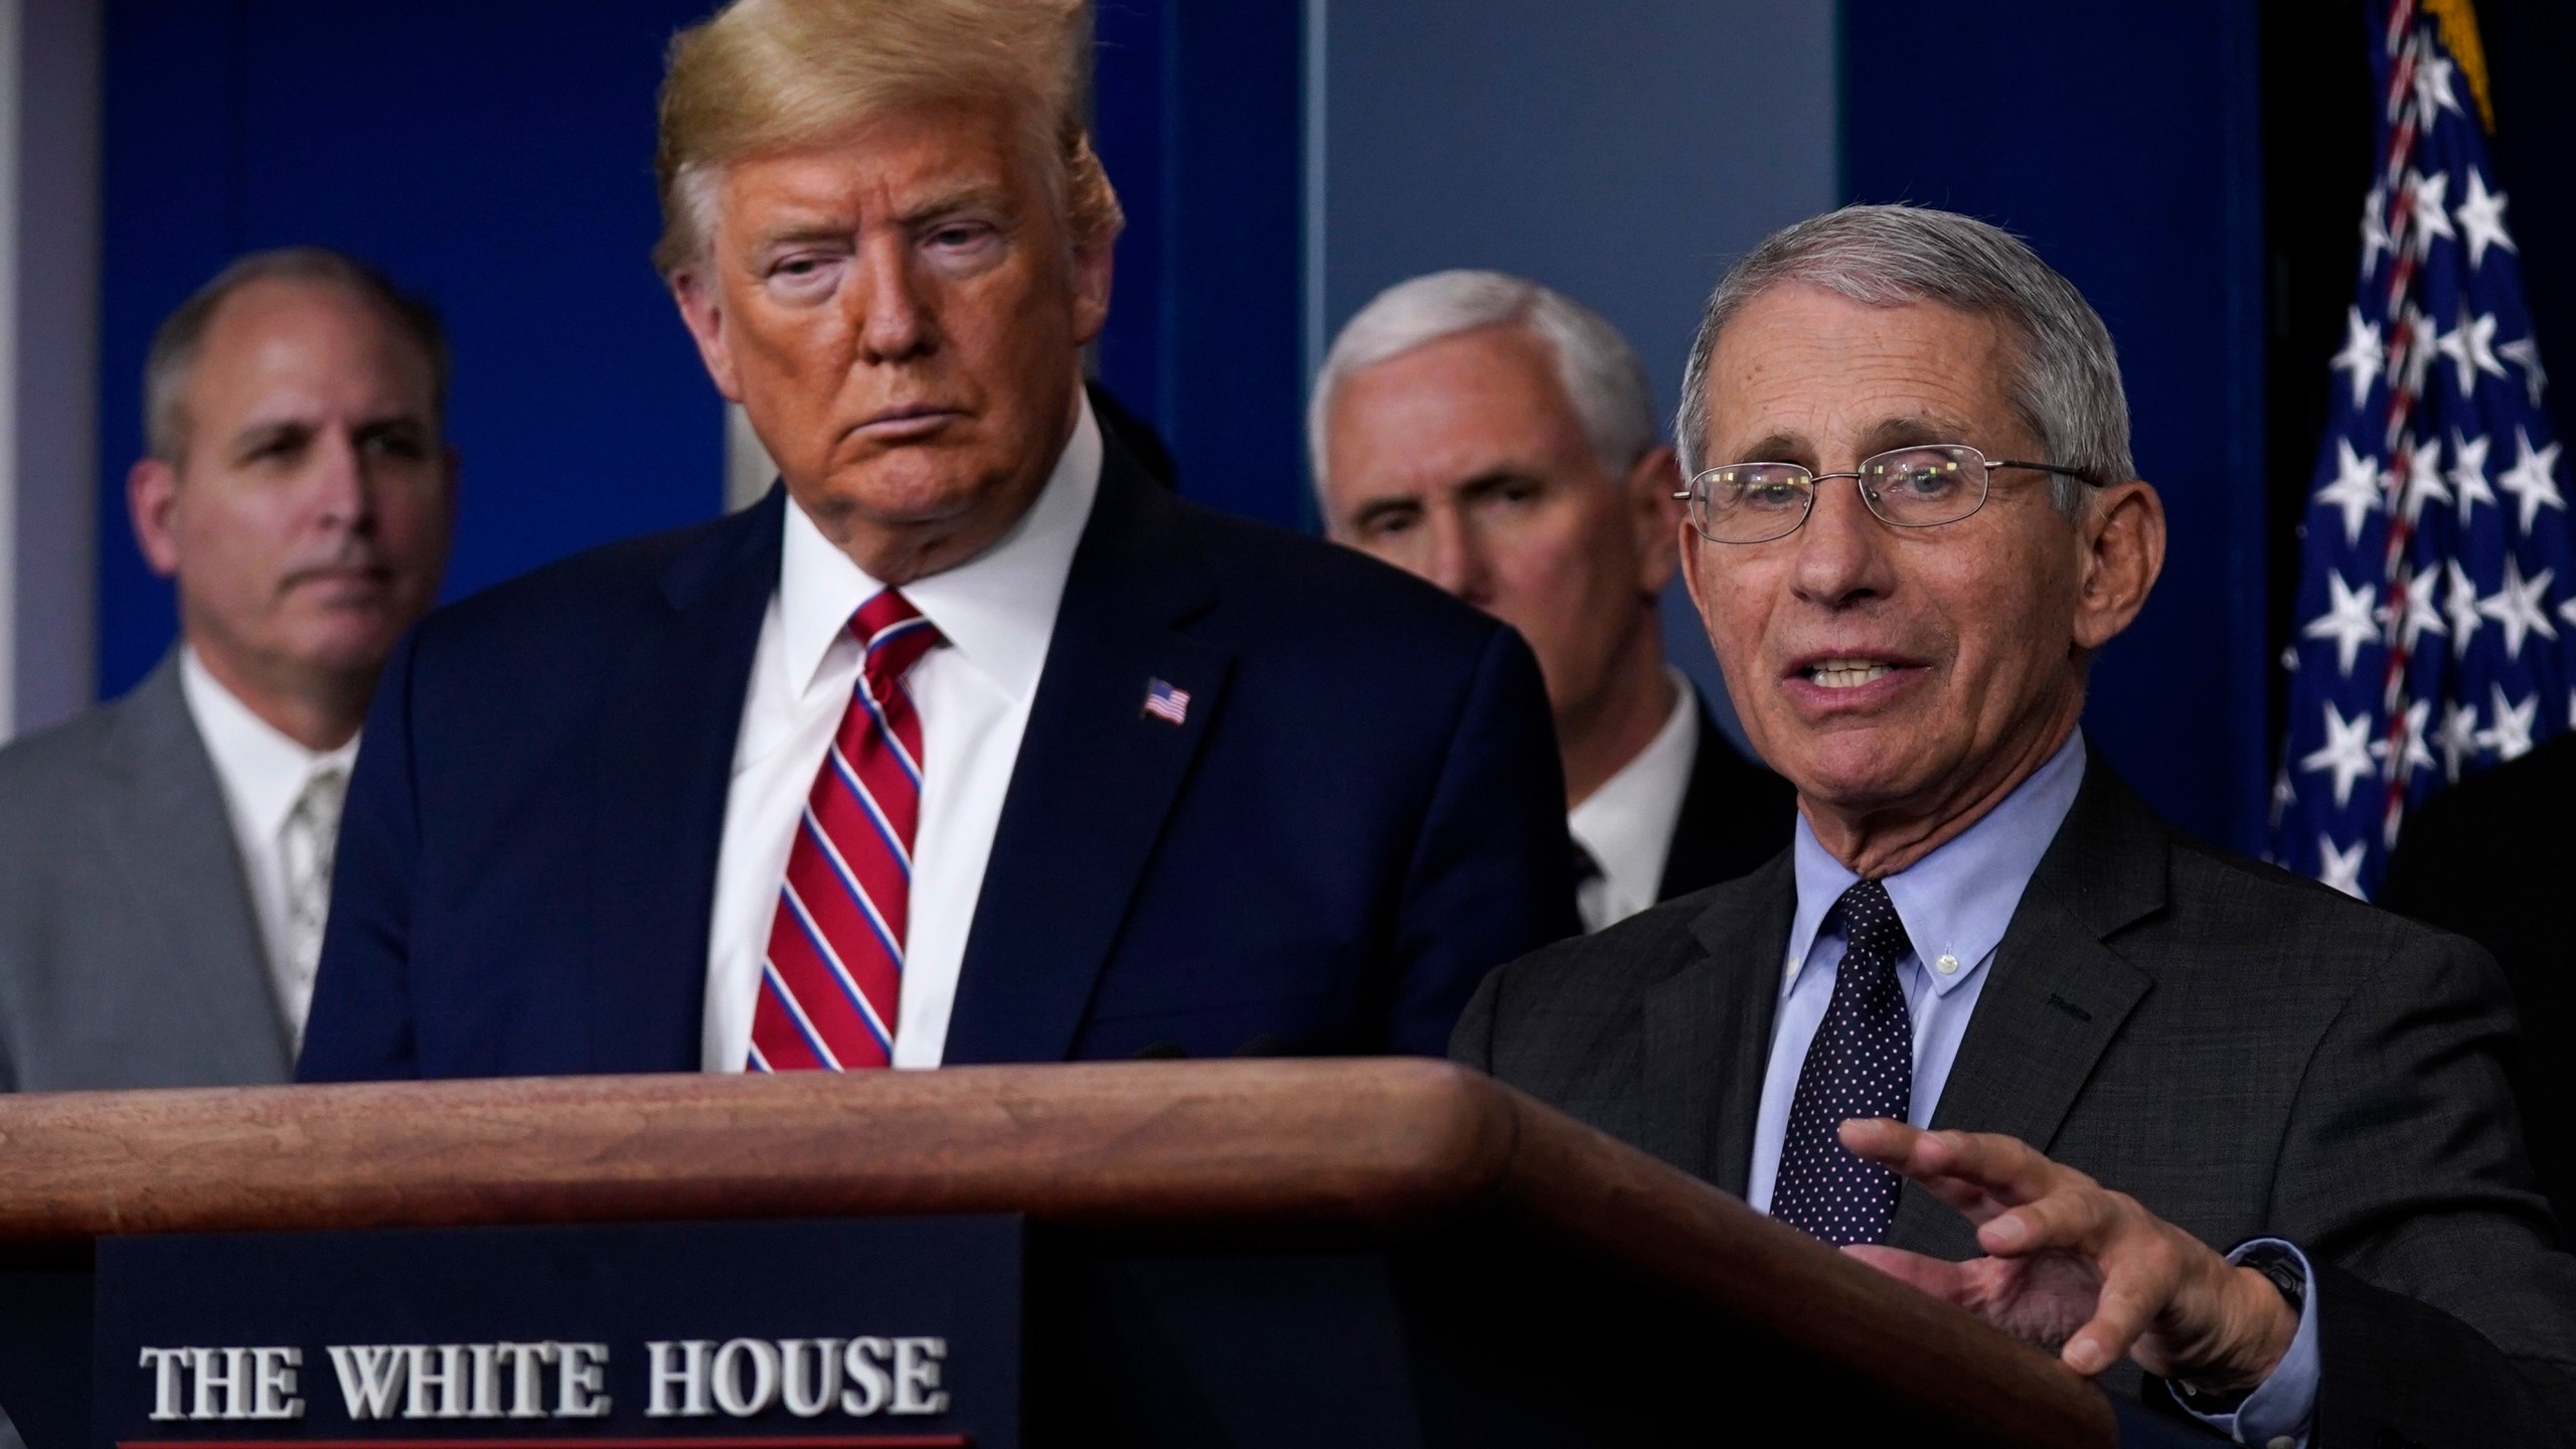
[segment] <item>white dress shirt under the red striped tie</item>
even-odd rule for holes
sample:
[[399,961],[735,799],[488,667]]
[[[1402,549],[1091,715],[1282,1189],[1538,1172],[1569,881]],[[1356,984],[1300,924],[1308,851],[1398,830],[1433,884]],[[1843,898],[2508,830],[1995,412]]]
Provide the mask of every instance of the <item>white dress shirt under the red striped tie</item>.
[[[935,1067],[948,1047],[948,1008],[984,892],[984,861],[1056,634],[1074,544],[1097,495],[1100,425],[1084,400],[1056,469],[1010,534],[953,570],[904,585],[904,598],[945,642],[904,678],[922,719],[922,815],[912,841],[896,1067]],[[884,588],[824,539],[793,498],[786,513],[778,590],[760,621],[716,853],[701,1031],[701,1065],[711,1073],[739,1073],[750,1055],[760,962],[796,817],[858,688],[850,614]]]

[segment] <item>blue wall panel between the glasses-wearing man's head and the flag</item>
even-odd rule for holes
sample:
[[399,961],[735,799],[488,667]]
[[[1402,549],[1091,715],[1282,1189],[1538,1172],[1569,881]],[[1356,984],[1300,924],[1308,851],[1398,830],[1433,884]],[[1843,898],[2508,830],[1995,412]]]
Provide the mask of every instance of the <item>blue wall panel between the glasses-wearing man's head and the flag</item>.
[[2169,820],[2262,846],[2262,178],[2254,0],[1844,0],[1844,183],[2012,227],[2120,343],[2164,583],[2087,730]]

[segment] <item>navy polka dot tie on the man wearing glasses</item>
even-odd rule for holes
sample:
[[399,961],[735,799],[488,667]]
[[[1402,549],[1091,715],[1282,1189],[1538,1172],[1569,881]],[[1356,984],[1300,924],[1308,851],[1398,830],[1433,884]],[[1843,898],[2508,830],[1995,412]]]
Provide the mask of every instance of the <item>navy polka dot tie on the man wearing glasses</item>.
[[1899,1178],[1850,1155],[1837,1129],[1850,1116],[1906,1119],[1914,1106],[1914,1021],[1896,982],[1906,926],[1888,887],[1865,879],[1834,902],[1842,920],[1842,967],[1816,1042],[1798,1067],[1788,1109],[1772,1217],[1842,1248],[1878,1243],[1896,1217]]

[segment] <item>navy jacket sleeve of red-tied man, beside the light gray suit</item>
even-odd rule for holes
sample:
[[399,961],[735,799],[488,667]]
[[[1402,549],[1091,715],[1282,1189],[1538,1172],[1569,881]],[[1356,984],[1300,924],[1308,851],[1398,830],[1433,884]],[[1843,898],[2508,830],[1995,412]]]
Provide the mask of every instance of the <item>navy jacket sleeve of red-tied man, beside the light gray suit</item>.
[[417,632],[407,634],[384,663],[340,810],[322,969],[296,1057],[296,1080],[304,1083],[420,1075],[410,998],[412,871],[420,859],[412,755],[417,639]]

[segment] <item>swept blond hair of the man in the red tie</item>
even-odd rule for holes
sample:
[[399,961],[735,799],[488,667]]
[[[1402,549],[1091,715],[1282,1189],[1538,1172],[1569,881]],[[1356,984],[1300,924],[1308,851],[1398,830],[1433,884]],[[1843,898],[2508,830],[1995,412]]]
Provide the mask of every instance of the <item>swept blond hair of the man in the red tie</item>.
[[675,276],[706,255],[726,162],[827,142],[896,106],[1010,98],[1074,245],[1126,217],[1082,124],[1087,0],[734,0],[670,41],[654,178]]

